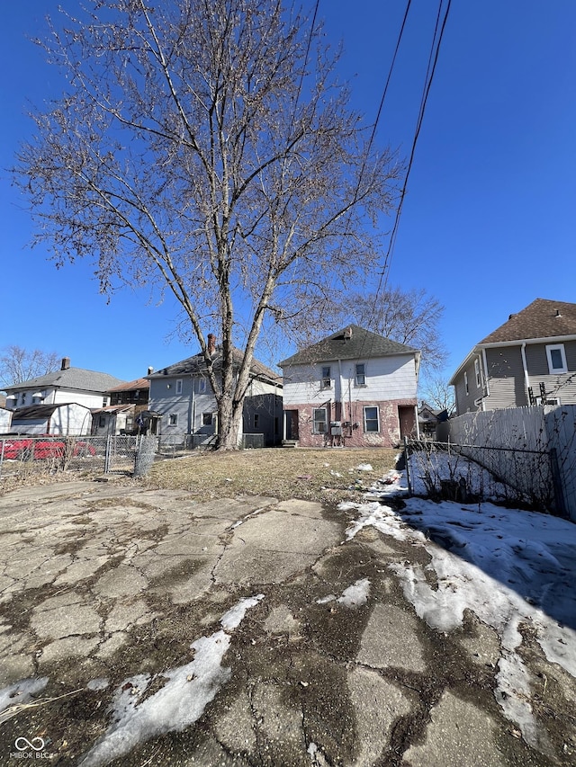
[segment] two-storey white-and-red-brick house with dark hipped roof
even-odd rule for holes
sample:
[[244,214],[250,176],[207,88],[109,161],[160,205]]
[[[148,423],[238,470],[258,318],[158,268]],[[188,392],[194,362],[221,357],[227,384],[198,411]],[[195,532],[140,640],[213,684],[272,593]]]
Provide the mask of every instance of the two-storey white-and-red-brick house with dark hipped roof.
[[420,352],[352,325],[280,362],[284,441],[391,447],[418,433]]

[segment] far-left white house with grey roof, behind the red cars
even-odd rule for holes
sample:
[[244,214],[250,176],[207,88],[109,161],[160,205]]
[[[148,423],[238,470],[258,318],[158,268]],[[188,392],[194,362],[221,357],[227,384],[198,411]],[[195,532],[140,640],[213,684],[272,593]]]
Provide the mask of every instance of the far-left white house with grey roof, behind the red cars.
[[[19,431],[23,430],[21,433],[49,433],[39,432],[40,427],[35,422],[40,419],[41,423],[48,424],[48,426],[49,424],[56,424],[57,421],[54,420],[53,415],[50,415],[48,410],[40,413],[38,410],[27,411],[26,408],[58,406],[58,424],[62,425],[58,426],[58,430],[54,433],[68,433],[67,431],[60,431],[60,428],[66,429],[65,424],[69,424],[69,428],[74,430],[69,433],[89,434],[91,419],[86,419],[85,414],[76,417],[72,411],[74,413],[77,411],[77,414],[80,414],[84,413],[82,408],[89,412],[93,408],[108,405],[108,391],[120,383],[120,379],[116,379],[108,373],[73,368],[70,366],[70,358],[64,357],[60,370],[5,387],[6,407],[13,411],[11,429],[14,431],[14,424],[18,423],[20,424]],[[72,405],[80,406],[81,409],[72,408],[69,414],[65,412],[65,407],[62,409],[63,406]],[[74,425],[78,419],[82,422],[81,426]],[[78,428],[80,431],[77,431]]]

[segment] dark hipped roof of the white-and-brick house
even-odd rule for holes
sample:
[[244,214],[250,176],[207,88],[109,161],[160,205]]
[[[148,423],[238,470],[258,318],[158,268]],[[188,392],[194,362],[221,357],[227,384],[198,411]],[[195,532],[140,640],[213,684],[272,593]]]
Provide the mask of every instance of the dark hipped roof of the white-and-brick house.
[[419,354],[418,349],[405,343],[392,341],[383,335],[365,330],[364,327],[348,325],[318,343],[296,352],[279,362],[281,368],[288,365],[304,365],[320,361],[362,360],[389,357],[393,354]]

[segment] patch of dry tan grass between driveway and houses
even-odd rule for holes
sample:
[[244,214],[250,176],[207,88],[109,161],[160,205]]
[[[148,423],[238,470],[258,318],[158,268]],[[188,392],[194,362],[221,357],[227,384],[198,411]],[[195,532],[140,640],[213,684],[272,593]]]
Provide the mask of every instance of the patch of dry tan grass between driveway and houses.
[[[340,500],[356,495],[394,468],[397,454],[398,450],[383,448],[198,450],[190,457],[157,462],[146,484],[189,490],[198,501],[235,495]],[[374,471],[357,470],[361,463],[371,464]]]

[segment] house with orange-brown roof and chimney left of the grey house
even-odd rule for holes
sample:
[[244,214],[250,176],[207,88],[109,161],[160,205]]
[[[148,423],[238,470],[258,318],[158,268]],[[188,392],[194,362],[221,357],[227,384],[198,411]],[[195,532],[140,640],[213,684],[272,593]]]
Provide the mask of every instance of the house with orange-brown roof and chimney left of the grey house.
[[[152,368],[148,368],[148,375]],[[110,405],[92,411],[94,435],[139,433],[147,431],[148,379],[135,379],[109,389]]]

